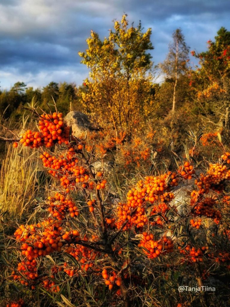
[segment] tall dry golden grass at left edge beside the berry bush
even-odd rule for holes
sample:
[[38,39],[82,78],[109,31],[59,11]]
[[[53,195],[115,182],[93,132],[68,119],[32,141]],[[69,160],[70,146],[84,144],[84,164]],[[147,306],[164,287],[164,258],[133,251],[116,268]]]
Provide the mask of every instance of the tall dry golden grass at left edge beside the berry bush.
[[[23,118],[22,126],[32,126],[28,117]],[[24,134],[24,129],[17,131]],[[12,136],[11,136],[12,137]],[[15,149],[12,143],[6,144],[5,156],[1,159],[0,169],[0,211],[11,216],[21,215],[34,206],[34,198],[44,193],[44,174],[38,152],[28,150],[19,144]]]

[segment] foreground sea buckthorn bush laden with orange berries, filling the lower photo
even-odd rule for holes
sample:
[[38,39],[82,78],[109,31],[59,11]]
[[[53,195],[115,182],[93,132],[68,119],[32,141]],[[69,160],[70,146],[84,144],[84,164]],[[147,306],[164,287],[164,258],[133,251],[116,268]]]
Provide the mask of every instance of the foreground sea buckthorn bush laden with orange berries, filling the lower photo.
[[[10,235],[2,231],[3,306],[230,304],[230,154],[220,137],[217,161],[197,160],[199,129],[184,157],[172,151],[174,167],[160,171],[152,157],[115,197],[93,166],[99,144],[88,148],[62,113],[31,111],[38,131],[10,140],[12,150],[37,150],[55,184]],[[216,292],[178,292],[210,284]]]

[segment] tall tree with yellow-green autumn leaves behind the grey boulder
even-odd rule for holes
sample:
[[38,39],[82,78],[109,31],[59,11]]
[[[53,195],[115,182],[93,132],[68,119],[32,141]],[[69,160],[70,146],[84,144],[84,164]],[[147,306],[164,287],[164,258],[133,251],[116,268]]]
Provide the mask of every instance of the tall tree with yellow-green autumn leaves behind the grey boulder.
[[148,116],[154,107],[151,29],[143,32],[141,23],[128,27],[126,17],[114,21],[114,30],[104,41],[91,31],[88,49],[79,52],[90,69],[86,90],[79,91],[82,104],[101,126],[112,123],[116,135],[122,130],[130,133],[135,120]]

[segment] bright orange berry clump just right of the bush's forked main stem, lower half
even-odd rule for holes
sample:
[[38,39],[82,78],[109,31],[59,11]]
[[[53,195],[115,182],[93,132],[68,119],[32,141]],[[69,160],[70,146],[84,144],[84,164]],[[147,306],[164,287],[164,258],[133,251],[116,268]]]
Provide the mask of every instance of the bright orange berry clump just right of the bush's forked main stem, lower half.
[[148,258],[157,258],[160,255],[173,252],[173,241],[163,236],[162,239],[155,241],[153,234],[143,232],[143,237],[138,244],[138,247],[143,248],[143,252]]

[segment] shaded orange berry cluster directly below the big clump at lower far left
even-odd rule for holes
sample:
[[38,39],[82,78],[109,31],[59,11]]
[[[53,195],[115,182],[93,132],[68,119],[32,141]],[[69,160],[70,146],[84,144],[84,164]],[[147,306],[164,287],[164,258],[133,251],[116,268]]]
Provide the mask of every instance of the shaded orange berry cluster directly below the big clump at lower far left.
[[[22,285],[29,286],[29,283],[33,283],[37,278],[37,263],[36,260],[32,261],[22,261],[17,264],[17,271],[20,272],[16,274],[15,271],[12,272],[11,276],[14,280],[18,280]],[[32,286],[32,289],[35,289]]]

